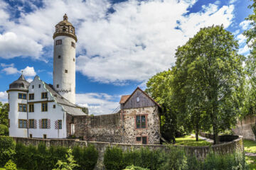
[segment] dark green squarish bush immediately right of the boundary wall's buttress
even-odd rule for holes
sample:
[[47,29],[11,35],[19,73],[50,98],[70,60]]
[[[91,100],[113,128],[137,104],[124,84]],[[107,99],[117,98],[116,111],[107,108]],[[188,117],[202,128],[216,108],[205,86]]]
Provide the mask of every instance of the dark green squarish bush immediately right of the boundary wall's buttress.
[[122,149],[119,147],[107,147],[103,163],[107,170],[124,169]]

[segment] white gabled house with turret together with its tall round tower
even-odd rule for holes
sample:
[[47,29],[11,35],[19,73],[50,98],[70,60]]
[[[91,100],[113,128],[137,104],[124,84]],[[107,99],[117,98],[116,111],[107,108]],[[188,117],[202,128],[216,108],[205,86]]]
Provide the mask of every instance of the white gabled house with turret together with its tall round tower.
[[[21,75],[9,85],[9,135],[11,137],[65,138],[66,117],[86,115],[75,105],[75,28],[63,16],[55,26],[53,85],[38,76],[31,83]],[[71,128],[73,126],[71,125]]]

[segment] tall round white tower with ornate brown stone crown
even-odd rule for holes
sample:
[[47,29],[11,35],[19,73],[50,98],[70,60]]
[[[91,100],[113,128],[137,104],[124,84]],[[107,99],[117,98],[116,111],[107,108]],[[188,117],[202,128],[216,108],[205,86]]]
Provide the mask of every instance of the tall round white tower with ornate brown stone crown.
[[75,103],[75,27],[63,16],[53,34],[53,86],[68,101]]

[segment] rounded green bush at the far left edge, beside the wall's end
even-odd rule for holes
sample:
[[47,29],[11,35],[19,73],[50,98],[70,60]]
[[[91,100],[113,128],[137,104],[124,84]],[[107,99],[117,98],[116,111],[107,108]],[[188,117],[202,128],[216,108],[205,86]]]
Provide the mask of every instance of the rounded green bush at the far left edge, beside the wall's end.
[[0,166],[14,159],[15,143],[11,137],[0,136]]

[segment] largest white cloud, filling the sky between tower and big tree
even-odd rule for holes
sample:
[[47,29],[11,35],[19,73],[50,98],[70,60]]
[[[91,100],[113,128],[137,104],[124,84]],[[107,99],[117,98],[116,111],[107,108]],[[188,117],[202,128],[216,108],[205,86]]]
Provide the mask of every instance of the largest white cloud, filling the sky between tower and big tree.
[[78,57],[77,70],[104,83],[144,81],[171,67],[178,45],[200,28],[213,24],[228,28],[233,21],[233,5],[210,4],[183,16],[188,6],[184,1],[127,1],[114,5],[116,12],[107,19],[89,18],[77,32],[78,51],[87,50],[87,55]]

